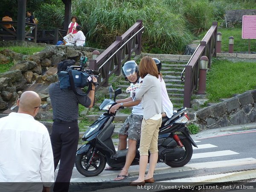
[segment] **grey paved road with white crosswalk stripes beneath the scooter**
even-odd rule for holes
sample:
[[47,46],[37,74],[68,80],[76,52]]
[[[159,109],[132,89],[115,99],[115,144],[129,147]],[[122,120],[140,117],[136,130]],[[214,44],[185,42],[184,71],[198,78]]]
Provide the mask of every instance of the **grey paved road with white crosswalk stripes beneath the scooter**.
[[[226,129],[225,131],[211,130],[208,132],[193,136],[198,148],[194,148],[192,160],[186,166],[171,168],[164,163],[158,163],[154,175],[157,183],[162,182],[167,185],[169,183],[219,183],[256,178],[256,142],[254,141],[256,130],[233,131]],[[131,166],[129,172],[131,177],[113,182],[119,171],[104,171],[96,177],[83,177],[74,168],[71,182],[73,182],[72,184],[82,184],[71,185],[70,190],[76,192],[80,190],[101,191],[100,189],[103,190],[103,188],[115,187],[108,190],[116,191],[119,188],[124,188],[123,191],[126,190],[127,183],[138,176],[138,169],[138,166]],[[157,190],[160,187],[160,185],[156,186],[157,183],[147,186],[151,186],[152,190],[154,188]],[[104,191],[106,190],[104,189]]]

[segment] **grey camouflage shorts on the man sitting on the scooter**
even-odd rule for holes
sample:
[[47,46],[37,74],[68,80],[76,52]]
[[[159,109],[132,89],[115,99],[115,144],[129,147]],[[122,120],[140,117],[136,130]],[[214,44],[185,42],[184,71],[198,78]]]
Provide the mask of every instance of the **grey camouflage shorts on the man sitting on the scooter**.
[[128,135],[128,139],[139,141],[143,115],[130,114],[119,131],[120,135]]

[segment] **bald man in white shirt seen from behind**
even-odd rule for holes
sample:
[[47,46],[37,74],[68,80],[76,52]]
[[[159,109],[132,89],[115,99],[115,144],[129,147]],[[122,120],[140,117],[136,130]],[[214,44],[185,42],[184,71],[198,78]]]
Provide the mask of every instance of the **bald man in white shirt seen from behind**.
[[[4,182],[0,188],[20,191],[23,187],[26,192],[43,189],[49,192],[54,182],[51,142],[47,128],[34,119],[41,107],[41,98],[34,91],[26,91],[17,105],[17,113],[0,118],[0,182]],[[8,185],[7,182],[15,183]]]

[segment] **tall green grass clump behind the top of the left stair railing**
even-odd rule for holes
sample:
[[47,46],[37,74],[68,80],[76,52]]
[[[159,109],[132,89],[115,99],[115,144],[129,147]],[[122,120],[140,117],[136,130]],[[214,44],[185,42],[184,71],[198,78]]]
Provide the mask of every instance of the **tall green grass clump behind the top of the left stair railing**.
[[78,7],[76,3],[79,8],[74,10],[74,14],[84,25],[87,40],[95,42],[100,48],[113,43],[115,37],[127,31],[137,19],[143,20],[145,26],[145,52],[181,54],[192,40],[183,15],[170,12],[169,6],[154,0],[73,1],[73,7]]

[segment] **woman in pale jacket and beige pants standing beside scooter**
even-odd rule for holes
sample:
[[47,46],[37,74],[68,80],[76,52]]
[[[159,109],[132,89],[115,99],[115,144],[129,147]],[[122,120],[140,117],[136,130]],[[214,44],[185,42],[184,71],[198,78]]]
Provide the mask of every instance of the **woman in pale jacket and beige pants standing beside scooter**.
[[[161,113],[163,113],[161,84],[158,80],[158,70],[154,60],[149,56],[143,57],[140,61],[139,72],[140,77],[143,78],[143,83],[136,90],[134,100],[141,100],[143,109],[140,136],[140,170],[139,178],[131,182],[131,186],[154,182],[153,174],[158,158],[158,132],[162,123]],[[149,170],[145,176],[148,150],[150,151]]]

